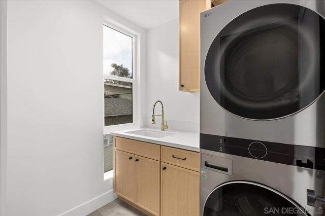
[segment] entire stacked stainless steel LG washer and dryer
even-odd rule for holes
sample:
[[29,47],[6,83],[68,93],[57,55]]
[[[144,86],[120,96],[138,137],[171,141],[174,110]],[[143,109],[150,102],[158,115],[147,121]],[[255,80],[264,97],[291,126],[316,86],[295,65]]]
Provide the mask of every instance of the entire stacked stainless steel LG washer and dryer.
[[201,216],[325,215],[325,1],[201,14]]

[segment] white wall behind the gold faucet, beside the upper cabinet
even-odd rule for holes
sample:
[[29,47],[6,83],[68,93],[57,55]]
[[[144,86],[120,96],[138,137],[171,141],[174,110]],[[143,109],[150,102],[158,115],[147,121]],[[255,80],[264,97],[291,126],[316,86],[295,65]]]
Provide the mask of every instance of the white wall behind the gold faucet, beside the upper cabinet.
[[[153,103],[160,99],[170,129],[199,132],[200,93],[178,91],[178,19],[148,30],[147,91],[144,121],[150,124]],[[161,112],[160,105],[156,106]],[[160,127],[157,117],[155,127]]]

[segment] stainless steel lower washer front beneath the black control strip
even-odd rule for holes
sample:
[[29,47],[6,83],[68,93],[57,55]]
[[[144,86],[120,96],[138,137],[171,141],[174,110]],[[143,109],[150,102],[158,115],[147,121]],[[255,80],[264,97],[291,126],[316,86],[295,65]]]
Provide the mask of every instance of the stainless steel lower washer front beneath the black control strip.
[[307,204],[307,189],[324,197],[324,175],[201,149],[200,215],[325,215],[325,205]]

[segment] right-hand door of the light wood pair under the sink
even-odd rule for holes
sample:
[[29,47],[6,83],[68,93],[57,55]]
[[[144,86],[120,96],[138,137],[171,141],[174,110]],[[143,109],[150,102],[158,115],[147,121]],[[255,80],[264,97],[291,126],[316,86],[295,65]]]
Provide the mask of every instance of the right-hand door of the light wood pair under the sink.
[[160,213],[160,162],[136,156],[136,204],[154,215]]

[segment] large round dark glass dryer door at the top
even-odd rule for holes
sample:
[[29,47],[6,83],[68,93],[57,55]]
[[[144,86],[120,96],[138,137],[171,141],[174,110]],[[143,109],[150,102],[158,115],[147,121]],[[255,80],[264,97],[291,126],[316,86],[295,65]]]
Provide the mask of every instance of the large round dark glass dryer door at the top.
[[226,111],[277,119],[322,94],[324,58],[323,17],[298,5],[265,5],[239,15],[217,34],[206,55],[205,81]]

